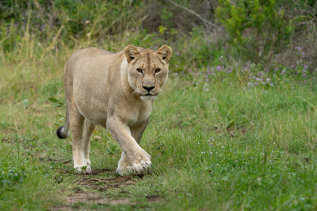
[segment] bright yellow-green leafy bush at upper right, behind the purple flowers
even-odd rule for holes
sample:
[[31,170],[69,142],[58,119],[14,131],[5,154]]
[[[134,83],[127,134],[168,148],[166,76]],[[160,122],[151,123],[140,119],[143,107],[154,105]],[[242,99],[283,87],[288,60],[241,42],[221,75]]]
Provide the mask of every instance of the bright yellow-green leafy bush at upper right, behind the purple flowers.
[[270,52],[288,43],[294,30],[275,0],[219,0],[216,18],[234,53],[255,63],[270,60]]

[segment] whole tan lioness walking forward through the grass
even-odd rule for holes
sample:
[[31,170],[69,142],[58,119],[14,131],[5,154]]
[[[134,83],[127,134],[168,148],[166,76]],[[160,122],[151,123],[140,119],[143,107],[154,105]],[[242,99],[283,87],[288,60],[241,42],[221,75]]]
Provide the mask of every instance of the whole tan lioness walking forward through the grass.
[[65,126],[58,138],[73,139],[74,168],[91,173],[89,144],[96,125],[106,127],[121,146],[116,172],[142,174],[151,166],[140,146],[153,101],[167,81],[172,49],[158,51],[128,45],[112,53],[101,48],[77,50],[64,67]]

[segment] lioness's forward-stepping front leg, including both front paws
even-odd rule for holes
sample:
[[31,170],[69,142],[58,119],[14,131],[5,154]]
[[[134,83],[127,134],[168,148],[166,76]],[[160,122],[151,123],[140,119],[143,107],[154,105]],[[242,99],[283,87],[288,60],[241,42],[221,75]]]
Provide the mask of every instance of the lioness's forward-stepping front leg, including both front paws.
[[106,127],[123,151],[116,172],[121,175],[131,171],[142,174],[146,169],[150,168],[152,164],[151,156],[132,137],[128,126],[112,118],[107,120]]

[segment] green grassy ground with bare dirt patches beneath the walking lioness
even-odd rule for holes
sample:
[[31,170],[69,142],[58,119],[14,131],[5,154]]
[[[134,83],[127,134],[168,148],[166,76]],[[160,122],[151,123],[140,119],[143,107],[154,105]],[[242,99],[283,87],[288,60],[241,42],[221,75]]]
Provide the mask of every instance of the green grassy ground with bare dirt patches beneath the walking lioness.
[[32,46],[0,54],[0,210],[317,209],[316,85],[250,87],[239,66],[215,78],[171,63],[141,141],[151,172],[117,175],[120,148],[97,127],[93,174],[78,175],[71,138],[55,135],[75,49]]

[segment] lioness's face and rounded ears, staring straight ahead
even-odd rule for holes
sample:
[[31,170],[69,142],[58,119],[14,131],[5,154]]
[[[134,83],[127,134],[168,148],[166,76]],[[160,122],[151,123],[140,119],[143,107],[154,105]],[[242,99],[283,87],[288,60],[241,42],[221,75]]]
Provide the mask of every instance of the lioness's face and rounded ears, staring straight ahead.
[[170,47],[164,45],[158,51],[137,49],[133,45],[125,48],[128,62],[128,81],[133,94],[141,100],[154,100],[160,88],[166,83],[168,61],[172,54]]

